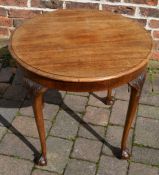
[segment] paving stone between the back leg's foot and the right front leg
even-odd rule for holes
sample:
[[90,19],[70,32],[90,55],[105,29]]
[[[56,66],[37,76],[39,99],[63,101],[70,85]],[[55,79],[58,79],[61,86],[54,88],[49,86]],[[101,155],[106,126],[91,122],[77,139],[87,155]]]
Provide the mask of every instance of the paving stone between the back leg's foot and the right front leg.
[[115,98],[128,101],[130,98],[130,92],[128,91],[128,85],[124,85],[119,88],[116,88]]

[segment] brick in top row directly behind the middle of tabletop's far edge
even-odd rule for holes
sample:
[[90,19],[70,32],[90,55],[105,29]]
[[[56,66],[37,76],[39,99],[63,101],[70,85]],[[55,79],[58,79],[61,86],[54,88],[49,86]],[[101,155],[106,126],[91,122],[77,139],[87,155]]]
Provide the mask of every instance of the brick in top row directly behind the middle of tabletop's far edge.
[[83,9],[98,9],[99,4],[96,3],[81,3],[81,2],[66,2],[67,8],[83,8]]

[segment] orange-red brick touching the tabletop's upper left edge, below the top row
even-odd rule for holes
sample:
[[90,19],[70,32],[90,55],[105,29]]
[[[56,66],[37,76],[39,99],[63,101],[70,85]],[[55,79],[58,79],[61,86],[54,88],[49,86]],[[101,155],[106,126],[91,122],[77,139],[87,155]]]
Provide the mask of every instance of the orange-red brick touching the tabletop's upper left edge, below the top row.
[[33,11],[33,10],[15,10],[11,9],[9,11],[9,17],[11,18],[32,18],[40,14],[40,11]]

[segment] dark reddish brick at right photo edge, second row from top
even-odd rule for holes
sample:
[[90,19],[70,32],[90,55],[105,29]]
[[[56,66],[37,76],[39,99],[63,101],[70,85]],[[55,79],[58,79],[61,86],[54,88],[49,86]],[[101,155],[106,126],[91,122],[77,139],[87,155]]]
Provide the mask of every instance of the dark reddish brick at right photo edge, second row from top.
[[140,8],[140,13],[142,16],[159,18],[159,9]]

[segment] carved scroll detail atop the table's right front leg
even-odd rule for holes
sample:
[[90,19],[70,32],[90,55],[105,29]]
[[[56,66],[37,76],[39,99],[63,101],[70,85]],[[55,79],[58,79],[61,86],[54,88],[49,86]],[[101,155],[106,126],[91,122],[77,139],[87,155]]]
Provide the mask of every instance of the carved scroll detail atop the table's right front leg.
[[129,86],[134,87],[138,91],[138,96],[140,96],[142,87],[144,85],[146,78],[146,71],[144,71],[141,75],[139,75],[135,80],[129,82]]

